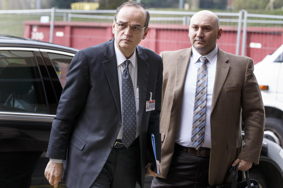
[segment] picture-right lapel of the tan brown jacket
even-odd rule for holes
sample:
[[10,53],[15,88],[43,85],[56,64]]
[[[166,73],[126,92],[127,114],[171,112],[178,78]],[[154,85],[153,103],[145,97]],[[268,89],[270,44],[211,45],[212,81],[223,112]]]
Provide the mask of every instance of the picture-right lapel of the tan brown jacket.
[[228,59],[229,58],[225,55],[225,53],[218,48],[218,58],[216,63],[216,73],[214,79],[210,114],[212,113],[216,105],[221,89],[229,72],[230,65],[226,63]]

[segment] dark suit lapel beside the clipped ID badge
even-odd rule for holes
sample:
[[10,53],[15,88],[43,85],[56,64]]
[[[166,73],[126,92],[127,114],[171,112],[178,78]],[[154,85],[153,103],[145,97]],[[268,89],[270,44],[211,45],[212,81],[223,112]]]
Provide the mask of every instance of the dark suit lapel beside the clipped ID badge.
[[147,55],[139,48],[136,47],[137,59],[138,59],[138,86],[139,86],[139,125],[141,123],[141,117],[143,117],[145,109],[145,100],[147,93],[147,83],[149,79],[149,64],[146,62]]

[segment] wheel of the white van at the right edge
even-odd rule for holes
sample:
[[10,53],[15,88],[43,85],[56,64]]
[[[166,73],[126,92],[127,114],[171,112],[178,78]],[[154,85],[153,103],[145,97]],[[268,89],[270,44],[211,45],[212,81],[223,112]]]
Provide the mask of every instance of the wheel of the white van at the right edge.
[[274,117],[266,117],[264,137],[283,146],[283,121]]

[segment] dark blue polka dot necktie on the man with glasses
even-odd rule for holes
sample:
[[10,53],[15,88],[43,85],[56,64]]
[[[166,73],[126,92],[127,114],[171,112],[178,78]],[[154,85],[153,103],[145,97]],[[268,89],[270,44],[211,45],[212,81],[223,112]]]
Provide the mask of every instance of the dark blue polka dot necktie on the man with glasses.
[[123,136],[122,142],[128,148],[136,138],[136,102],[133,82],[129,72],[131,61],[124,62],[122,74]]

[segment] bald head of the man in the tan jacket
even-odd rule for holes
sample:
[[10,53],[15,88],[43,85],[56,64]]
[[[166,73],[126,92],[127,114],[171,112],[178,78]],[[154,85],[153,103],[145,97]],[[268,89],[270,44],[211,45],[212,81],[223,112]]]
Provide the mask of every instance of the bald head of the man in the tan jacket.
[[202,56],[206,56],[216,47],[216,40],[221,37],[221,33],[218,16],[213,12],[203,10],[192,16],[189,26],[190,41]]

